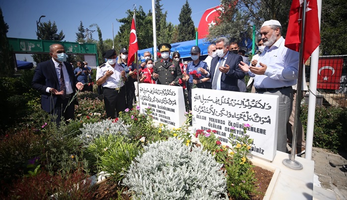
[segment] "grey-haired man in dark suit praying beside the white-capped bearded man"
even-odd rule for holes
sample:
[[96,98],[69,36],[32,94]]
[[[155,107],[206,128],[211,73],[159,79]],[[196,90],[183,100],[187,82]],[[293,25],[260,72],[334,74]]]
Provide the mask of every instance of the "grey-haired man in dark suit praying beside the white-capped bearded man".
[[217,57],[211,61],[210,78],[212,89],[240,91],[237,80],[244,78],[244,73],[238,67],[242,57],[229,52],[229,40],[219,38],[216,40]]

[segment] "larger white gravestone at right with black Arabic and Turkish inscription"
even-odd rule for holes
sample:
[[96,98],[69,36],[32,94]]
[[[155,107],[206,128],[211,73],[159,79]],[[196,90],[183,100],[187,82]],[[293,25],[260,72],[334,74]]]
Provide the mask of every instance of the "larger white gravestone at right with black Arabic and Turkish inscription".
[[229,145],[231,127],[236,137],[243,124],[253,139],[252,155],[272,161],[276,155],[278,132],[276,95],[195,88],[192,90],[193,129],[217,130],[222,144]]

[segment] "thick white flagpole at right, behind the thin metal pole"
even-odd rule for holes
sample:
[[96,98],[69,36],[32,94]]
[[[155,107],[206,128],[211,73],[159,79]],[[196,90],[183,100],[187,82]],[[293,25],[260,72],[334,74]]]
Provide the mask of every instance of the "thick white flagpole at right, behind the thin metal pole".
[[[321,30],[321,15],[322,15],[322,0],[317,0],[318,7],[318,22],[319,31]],[[310,69],[310,94],[308,98],[308,115],[307,115],[307,132],[306,132],[306,148],[305,159],[312,159],[312,146],[313,146],[313,130],[314,130],[314,115],[316,111],[316,93],[317,93],[317,77],[318,77],[318,59],[319,59],[319,46],[313,51],[311,55],[311,69]]]

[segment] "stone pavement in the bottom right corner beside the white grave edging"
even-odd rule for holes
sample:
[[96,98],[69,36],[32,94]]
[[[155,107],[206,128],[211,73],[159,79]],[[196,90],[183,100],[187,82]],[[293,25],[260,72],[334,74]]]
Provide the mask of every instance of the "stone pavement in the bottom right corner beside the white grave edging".
[[[312,149],[315,177],[313,200],[347,200],[347,153],[333,154],[324,149]],[[317,180],[318,179],[318,180]]]

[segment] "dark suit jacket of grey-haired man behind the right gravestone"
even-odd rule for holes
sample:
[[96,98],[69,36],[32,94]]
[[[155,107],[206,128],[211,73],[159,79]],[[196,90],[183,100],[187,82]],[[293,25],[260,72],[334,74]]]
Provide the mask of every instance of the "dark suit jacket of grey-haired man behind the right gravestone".
[[[211,82],[213,82],[215,69],[218,65],[219,59],[220,58],[217,56],[217,57],[214,57],[211,61],[211,69],[210,69]],[[225,65],[229,65],[230,70],[227,74],[221,72],[222,73],[221,90],[237,91],[237,92],[240,91],[237,86],[237,80],[244,78],[244,73],[238,67],[238,64],[241,61],[242,61],[242,57],[240,55],[237,55],[234,53],[228,54]]]

